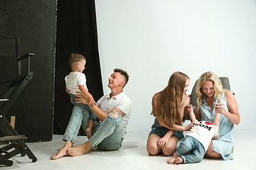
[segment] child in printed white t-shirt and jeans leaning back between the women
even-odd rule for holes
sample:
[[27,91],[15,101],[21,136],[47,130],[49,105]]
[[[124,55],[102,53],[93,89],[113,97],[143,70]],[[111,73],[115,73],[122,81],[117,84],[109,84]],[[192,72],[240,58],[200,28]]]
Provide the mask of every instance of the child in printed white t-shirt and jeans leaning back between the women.
[[[215,103],[215,105],[221,105],[221,103]],[[198,122],[193,111],[189,113],[189,116],[191,122],[196,122],[196,125],[188,132],[186,137],[181,141],[181,144],[176,148],[174,156],[167,161],[169,164],[201,162],[212,138],[218,140],[220,137],[218,133],[220,113],[215,113],[213,124],[203,120]],[[187,152],[189,154],[186,154]]]

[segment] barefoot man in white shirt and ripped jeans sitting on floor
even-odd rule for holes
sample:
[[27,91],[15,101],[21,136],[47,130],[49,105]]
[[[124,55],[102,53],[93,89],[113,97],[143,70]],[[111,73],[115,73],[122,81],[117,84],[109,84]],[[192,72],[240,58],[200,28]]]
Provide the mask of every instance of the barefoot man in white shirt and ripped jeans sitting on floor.
[[[108,84],[111,93],[102,96],[97,101],[96,106],[90,106],[100,123],[95,122],[90,140],[78,147],[73,147],[73,144],[78,135],[80,125],[82,124],[83,129],[87,129],[89,113],[80,106],[74,106],[68,128],[65,130],[63,137],[65,145],[57,154],[53,154],[50,159],[59,159],[63,156],[79,156],[89,152],[92,147],[102,150],[117,150],[121,147],[132,111],[132,101],[123,91],[128,80],[129,75],[127,72],[122,69],[114,69]],[[85,95],[80,93],[80,95],[75,96],[80,97],[75,99],[77,103],[89,103]]]

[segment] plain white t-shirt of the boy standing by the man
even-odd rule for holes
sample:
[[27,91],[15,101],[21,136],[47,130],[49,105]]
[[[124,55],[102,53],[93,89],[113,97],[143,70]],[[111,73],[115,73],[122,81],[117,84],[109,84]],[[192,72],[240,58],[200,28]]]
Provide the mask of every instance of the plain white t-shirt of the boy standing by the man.
[[65,77],[65,84],[70,94],[77,94],[76,91],[81,92],[79,85],[84,85],[85,89],[88,91],[85,74],[81,72],[70,72],[70,74]]

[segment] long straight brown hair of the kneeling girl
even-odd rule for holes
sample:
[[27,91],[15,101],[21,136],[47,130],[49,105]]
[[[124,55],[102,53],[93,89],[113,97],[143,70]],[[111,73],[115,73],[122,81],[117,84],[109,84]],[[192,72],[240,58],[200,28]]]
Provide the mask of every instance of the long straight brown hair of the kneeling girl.
[[183,72],[174,72],[168,86],[152,98],[151,115],[171,128],[174,124],[181,125],[181,101],[187,79],[189,77]]

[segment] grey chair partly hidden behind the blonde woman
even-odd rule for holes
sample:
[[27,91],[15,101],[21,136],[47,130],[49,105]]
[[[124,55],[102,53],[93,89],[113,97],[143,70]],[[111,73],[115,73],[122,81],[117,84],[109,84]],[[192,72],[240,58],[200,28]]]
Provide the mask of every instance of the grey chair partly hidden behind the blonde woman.
[[[223,89],[227,89],[227,90],[230,90],[230,81],[228,79],[228,77],[219,77],[220,79],[220,82],[223,86]],[[196,111],[196,100],[198,98],[198,96],[196,95],[196,87],[197,87],[197,84],[198,84],[198,80],[196,80],[196,83],[195,85],[193,86],[193,89],[191,91],[191,95],[188,95],[190,96],[191,100],[190,100],[190,103],[189,104],[192,104],[193,105],[193,109],[194,111]],[[233,93],[234,94],[234,93]],[[235,95],[235,94],[234,94]],[[190,120],[189,118],[189,115],[186,114],[185,115],[185,118],[186,120]]]

